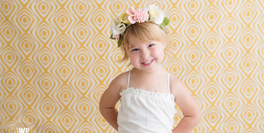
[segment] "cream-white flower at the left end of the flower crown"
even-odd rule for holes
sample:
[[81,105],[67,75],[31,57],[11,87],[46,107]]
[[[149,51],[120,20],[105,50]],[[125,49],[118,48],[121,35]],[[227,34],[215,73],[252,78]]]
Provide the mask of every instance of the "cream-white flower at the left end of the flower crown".
[[126,30],[126,25],[121,23],[120,17],[114,18],[112,24],[110,25],[110,31],[114,35],[119,35]]

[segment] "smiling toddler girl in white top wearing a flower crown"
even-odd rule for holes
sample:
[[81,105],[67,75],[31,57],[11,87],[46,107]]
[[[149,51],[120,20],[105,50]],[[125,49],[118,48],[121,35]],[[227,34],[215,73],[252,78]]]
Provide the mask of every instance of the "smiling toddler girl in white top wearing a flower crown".
[[[169,22],[152,4],[143,9],[131,6],[110,26],[110,39],[118,40],[124,53],[121,61],[130,60],[133,66],[113,79],[99,103],[101,114],[119,133],[190,133],[201,119],[188,88],[161,66],[171,44]],[[176,104],[184,117],[173,129]]]

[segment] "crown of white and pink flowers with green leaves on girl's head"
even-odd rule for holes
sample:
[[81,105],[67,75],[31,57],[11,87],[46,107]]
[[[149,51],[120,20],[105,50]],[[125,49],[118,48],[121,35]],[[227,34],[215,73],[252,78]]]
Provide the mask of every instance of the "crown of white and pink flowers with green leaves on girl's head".
[[122,43],[121,34],[123,34],[128,26],[134,24],[135,22],[154,22],[162,27],[164,30],[168,31],[165,27],[169,24],[170,20],[164,17],[164,12],[160,10],[155,4],[149,5],[144,8],[130,7],[125,13],[120,17],[114,18],[112,24],[110,25],[111,36],[110,39],[118,40],[118,47]]

